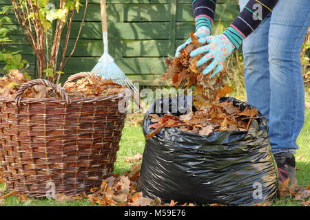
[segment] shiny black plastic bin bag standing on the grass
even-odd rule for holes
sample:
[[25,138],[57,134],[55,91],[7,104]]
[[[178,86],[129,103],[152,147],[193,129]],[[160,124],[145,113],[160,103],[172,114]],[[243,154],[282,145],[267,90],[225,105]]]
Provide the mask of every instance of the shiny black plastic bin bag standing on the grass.
[[[148,127],[152,122],[147,119],[150,113],[184,114],[190,98],[155,100],[143,120],[144,135],[150,132]],[[245,107],[253,108],[235,98],[220,99],[220,102],[227,101],[240,106],[241,111]],[[156,106],[163,104],[169,108],[158,113]],[[147,197],[180,203],[249,206],[271,199],[278,190],[278,174],[265,118],[252,120],[249,131],[209,135],[163,128],[146,140],[138,190]]]

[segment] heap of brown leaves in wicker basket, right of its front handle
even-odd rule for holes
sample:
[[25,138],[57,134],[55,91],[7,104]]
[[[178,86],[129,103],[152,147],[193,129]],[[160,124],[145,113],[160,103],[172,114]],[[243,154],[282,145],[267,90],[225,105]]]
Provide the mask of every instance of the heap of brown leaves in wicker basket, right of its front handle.
[[63,89],[68,91],[70,96],[94,97],[118,94],[125,87],[114,83],[112,79],[106,80],[100,76],[93,75],[81,78],[76,82],[66,83]]

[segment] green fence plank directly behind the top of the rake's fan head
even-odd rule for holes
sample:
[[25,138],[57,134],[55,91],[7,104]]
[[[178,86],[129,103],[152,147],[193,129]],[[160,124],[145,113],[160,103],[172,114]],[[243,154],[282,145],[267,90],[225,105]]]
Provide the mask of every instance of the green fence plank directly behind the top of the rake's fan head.
[[[64,72],[74,74],[90,71],[99,58],[72,57]],[[121,58],[116,64],[125,74],[163,74],[165,73],[165,58]]]

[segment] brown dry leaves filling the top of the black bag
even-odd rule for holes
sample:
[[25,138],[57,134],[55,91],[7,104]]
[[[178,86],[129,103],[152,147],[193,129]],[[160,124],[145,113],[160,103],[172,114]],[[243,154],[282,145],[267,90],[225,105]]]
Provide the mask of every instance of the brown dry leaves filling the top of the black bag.
[[152,124],[149,129],[154,129],[147,134],[147,139],[152,138],[163,127],[178,127],[181,131],[209,135],[214,131],[247,131],[251,120],[259,118],[256,116],[258,110],[245,109],[240,111],[232,102],[220,102],[209,104],[204,109],[190,111],[185,115],[164,115],[160,117],[150,114],[149,119]]

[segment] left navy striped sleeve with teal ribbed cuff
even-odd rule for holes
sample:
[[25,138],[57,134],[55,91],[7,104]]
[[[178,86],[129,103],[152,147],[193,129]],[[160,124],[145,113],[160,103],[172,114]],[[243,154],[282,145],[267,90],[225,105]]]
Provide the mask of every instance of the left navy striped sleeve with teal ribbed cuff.
[[195,28],[207,26],[211,32],[214,23],[216,0],[192,0]]

